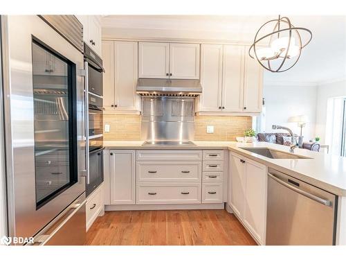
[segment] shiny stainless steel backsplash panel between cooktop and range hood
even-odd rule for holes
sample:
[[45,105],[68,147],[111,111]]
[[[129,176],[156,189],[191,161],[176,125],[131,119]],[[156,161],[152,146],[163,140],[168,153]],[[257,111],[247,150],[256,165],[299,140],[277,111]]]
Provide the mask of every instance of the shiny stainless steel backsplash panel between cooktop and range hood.
[[143,97],[142,111],[142,140],[194,139],[194,98]]

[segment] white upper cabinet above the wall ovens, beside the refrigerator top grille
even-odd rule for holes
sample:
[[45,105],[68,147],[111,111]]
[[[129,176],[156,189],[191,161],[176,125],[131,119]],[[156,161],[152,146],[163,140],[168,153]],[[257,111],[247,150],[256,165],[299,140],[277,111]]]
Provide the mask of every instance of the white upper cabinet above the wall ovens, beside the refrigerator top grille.
[[83,25],[83,40],[101,56],[101,23],[97,15],[76,15]]

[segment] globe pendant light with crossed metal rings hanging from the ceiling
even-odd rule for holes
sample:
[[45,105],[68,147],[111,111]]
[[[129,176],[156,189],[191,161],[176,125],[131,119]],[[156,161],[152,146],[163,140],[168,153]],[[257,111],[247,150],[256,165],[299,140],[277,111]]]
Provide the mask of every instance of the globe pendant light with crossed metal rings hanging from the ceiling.
[[[262,35],[272,26],[273,31]],[[307,35],[302,44],[301,33]],[[260,62],[264,69],[271,72],[283,72],[291,69],[299,60],[302,49],[309,44],[312,33],[307,28],[294,27],[288,17],[267,21],[255,35],[248,50],[251,58]]]

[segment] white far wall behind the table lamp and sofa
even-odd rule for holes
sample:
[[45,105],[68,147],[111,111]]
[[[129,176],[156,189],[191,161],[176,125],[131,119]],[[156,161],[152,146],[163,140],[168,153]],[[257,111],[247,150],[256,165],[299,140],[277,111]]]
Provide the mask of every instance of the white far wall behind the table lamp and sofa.
[[[300,135],[297,123],[289,123],[291,116],[306,115],[309,122],[303,128],[304,141],[316,137],[316,96],[317,86],[280,86],[264,83],[265,132],[272,130],[271,125],[284,125]],[[281,131],[284,132],[284,131]]]

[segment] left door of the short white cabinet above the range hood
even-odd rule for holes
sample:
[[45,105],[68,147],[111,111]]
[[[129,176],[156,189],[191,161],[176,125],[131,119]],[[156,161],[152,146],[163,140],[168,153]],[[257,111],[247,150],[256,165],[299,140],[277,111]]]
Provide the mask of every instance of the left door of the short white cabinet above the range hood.
[[170,44],[162,42],[139,43],[139,78],[169,78]]

